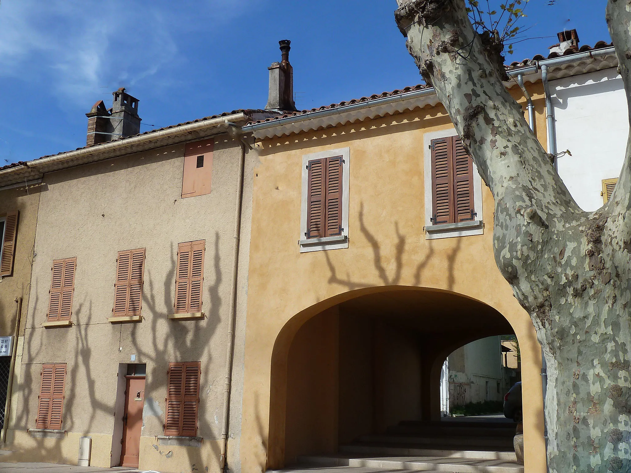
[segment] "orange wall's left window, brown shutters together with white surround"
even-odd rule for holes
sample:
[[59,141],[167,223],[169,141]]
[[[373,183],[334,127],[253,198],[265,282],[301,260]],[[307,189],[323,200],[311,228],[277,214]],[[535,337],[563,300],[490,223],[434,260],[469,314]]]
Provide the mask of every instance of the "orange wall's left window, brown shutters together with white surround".
[[303,156],[300,252],[348,248],[350,148]]

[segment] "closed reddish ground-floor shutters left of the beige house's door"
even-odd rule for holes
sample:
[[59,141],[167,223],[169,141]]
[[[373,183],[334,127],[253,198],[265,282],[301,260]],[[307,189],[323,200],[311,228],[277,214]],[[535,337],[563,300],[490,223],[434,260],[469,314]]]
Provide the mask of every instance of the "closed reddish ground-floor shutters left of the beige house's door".
[[61,429],[66,388],[66,363],[42,365],[42,384],[35,428]]

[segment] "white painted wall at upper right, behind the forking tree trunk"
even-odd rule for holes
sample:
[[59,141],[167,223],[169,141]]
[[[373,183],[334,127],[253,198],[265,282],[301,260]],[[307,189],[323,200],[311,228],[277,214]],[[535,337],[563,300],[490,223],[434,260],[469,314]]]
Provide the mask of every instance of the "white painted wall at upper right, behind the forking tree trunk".
[[602,180],[618,177],[627,148],[628,112],[615,68],[550,81],[558,173],[584,211],[603,205]]

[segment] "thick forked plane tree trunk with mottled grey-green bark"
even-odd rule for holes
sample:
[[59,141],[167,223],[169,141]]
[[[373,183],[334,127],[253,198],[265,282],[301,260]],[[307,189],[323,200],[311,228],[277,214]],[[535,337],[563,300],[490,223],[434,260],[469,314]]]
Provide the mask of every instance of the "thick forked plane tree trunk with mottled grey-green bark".
[[[398,3],[408,50],[493,193],[495,260],[543,347],[549,469],[631,472],[631,144],[610,201],[582,211],[507,92],[497,45],[475,33],[464,0]],[[630,3],[608,6],[627,95]]]

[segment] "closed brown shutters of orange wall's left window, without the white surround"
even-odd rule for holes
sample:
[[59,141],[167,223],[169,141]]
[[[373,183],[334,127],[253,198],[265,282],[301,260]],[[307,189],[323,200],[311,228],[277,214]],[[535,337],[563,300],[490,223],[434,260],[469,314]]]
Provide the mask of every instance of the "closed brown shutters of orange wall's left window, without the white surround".
[[307,163],[307,238],[341,235],[342,156]]

